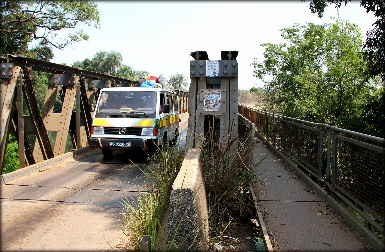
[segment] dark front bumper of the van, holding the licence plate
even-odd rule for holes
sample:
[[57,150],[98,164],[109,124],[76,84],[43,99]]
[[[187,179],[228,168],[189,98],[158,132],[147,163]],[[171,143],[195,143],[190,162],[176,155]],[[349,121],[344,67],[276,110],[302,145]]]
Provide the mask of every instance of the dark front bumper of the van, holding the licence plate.
[[[155,139],[154,139],[155,140]],[[111,142],[123,143],[124,146],[110,146]],[[130,146],[126,146],[130,143]],[[111,150],[130,150],[130,149],[148,149],[153,144],[152,139],[128,139],[128,138],[90,138],[88,144],[91,149],[111,149]]]

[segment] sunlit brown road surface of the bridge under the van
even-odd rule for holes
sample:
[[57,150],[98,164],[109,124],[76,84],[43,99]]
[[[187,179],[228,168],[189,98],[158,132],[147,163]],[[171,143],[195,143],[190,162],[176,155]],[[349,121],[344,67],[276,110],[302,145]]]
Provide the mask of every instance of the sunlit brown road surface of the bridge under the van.
[[[181,115],[184,146],[188,114]],[[53,164],[0,186],[1,250],[102,250],[118,244],[120,197],[134,200],[148,162],[138,151],[100,149]]]

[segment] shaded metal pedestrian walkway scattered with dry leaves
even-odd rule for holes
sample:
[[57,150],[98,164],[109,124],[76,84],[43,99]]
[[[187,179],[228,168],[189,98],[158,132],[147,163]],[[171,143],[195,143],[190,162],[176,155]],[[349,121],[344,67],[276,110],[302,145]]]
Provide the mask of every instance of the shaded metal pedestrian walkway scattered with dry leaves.
[[363,238],[350,228],[315,191],[264,141],[254,151],[254,162],[266,159],[254,174],[253,185],[274,251],[363,251]]

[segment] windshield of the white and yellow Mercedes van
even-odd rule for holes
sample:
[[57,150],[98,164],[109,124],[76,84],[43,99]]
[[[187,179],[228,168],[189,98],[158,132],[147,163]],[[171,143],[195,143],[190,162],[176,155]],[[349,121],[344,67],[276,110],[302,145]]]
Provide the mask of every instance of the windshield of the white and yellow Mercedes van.
[[156,92],[104,91],[100,95],[97,112],[100,113],[154,113]]

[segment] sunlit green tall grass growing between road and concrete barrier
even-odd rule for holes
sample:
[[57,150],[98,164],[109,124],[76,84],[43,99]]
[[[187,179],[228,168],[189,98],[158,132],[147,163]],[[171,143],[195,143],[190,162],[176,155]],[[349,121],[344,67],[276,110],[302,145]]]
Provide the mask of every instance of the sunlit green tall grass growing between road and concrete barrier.
[[181,168],[184,150],[179,145],[170,147],[168,144],[156,147],[156,153],[149,157],[150,164],[145,167],[146,193],[137,196],[137,200],[122,198],[124,203],[122,223],[131,235],[126,235],[131,241],[131,247],[121,246],[121,249],[139,249],[143,235],[151,236],[150,251],[159,248],[157,230],[169,206],[172,184]]

